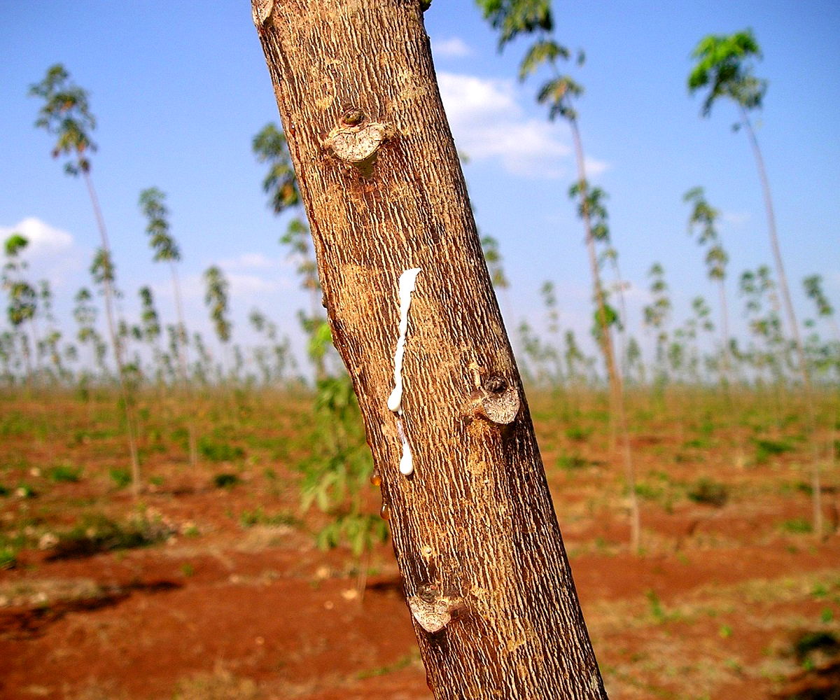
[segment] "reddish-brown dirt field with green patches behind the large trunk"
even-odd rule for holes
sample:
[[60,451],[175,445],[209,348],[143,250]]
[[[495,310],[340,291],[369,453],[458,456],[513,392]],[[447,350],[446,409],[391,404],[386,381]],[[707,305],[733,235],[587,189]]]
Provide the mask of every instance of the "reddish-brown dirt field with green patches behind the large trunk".
[[[801,412],[753,398],[639,404],[633,555],[603,411],[532,397],[613,700],[840,697],[840,538],[810,531]],[[390,545],[318,550],[323,515],[299,511],[307,402],[202,399],[197,470],[175,405],[144,406],[135,501],[111,399],[0,401],[0,697],[430,698]]]

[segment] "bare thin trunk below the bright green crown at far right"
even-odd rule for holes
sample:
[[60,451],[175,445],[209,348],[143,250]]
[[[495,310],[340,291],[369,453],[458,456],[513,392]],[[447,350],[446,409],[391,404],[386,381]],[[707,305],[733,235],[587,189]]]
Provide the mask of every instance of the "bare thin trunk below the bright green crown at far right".
[[767,169],[764,167],[764,158],[759,148],[759,139],[755,136],[753,124],[750,122],[747,110],[741,108],[743,124],[747,127],[749,144],[753,148],[756,166],[759,168],[759,180],[761,181],[761,192],[764,195],[764,210],[767,213],[767,230],[770,236],[770,246],[773,248],[773,258],[776,266],[776,276],[779,279],[782,303],[785,306],[785,314],[790,325],[790,334],[793,337],[796,348],[796,357],[799,362],[799,371],[802,377],[802,388],[805,391],[806,416],[808,420],[808,442],[811,444],[811,491],[814,518],[814,532],[818,538],[822,537],[822,483],[820,478],[820,453],[816,445],[816,412],[814,409],[814,392],[811,387],[811,372],[808,370],[808,361],[805,356],[805,346],[802,345],[799,324],[796,323],[796,313],[793,303],[790,301],[790,291],[785,275],[785,266],[782,262],[782,253],[779,245],[779,236],[776,234],[776,217],[773,209],[773,197],[770,195],[770,182],[767,178]]

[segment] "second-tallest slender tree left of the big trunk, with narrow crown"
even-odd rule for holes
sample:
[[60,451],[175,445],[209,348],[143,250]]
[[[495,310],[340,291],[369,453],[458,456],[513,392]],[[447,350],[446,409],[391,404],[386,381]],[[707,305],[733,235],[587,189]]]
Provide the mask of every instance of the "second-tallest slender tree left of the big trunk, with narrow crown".
[[[181,386],[186,393],[187,403],[192,397],[190,384],[190,358],[189,342],[184,320],[184,305],[181,303],[181,282],[178,280],[178,266],[181,262],[181,249],[172,234],[169,226],[169,209],[165,204],[166,195],[157,187],[149,187],[140,192],[140,211],[146,217],[146,233],[149,234],[149,245],[155,251],[153,260],[155,262],[168,262],[172,276],[172,294],[175,298],[175,311],[178,318],[177,325],[177,355],[178,369],[181,377]],[[190,450],[190,464],[197,466],[198,449],[196,444],[196,424],[192,419],[190,410],[186,413],[186,433]]]

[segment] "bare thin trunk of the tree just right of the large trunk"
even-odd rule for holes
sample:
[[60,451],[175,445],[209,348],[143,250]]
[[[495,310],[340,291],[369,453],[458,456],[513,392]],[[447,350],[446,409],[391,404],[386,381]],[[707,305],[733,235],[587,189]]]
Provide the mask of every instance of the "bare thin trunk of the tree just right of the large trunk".
[[[580,182],[581,210],[583,212],[583,223],[586,235],[586,251],[589,254],[589,266],[592,274],[592,281],[595,284],[596,303],[598,304],[598,318],[601,324],[601,349],[604,352],[606,361],[606,375],[610,383],[610,407],[611,424],[617,421],[618,432],[622,440],[622,460],[624,462],[624,479],[627,485],[627,498],[630,503],[630,548],[638,552],[642,543],[642,524],[638,509],[638,496],[636,494],[636,470],[633,466],[633,450],[630,447],[630,432],[627,429],[627,413],[624,410],[624,390],[622,378],[616,366],[615,353],[612,350],[612,335],[609,325],[606,323],[606,301],[604,299],[604,287],[601,285],[601,275],[598,272],[598,258],[595,252],[595,239],[592,237],[592,224],[589,216],[589,208],[586,206],[588,194],[588,183],[586,182],[586,166],[583,156],[583,143],[580,139],[577,119],[571,118],[569,124],[572,129],[572,140],[575,143],[575,159],[577,161],[578,180]],[[613,429],[614,431],[614,429]]]

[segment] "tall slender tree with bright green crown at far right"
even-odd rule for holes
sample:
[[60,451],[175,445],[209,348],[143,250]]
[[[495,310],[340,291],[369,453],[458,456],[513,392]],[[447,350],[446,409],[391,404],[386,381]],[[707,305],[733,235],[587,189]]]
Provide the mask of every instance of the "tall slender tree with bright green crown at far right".
[[738,108],[740,117],[732,129],[738,131],[743,128],[747,132],[755,164],[759,170],[776,278],[779,282],[782,304],[790,326],[790,336],[795,345],[799,373],[805,392],[808,439],[812,449],[811,490],[813,492],[814,531],[817,537],[822,537],[822,483],[819,450],[816,446],[816,409],[811,388],[811,374],[805,357],[805,348],[802,345],[799,324],[796,321],[796,313],[790,301],[785,265],[782,261],[779,236],[776,233],[776,218],[767,168],[764,166],[764,156],[759,148],[759,139],[753,129],[753,122],[749,118],[751,112],[762,107],[764,95],[767,92],[767,81],[753,74],[753,61],[762,57],[761,48],[752,29],[745,29],[734,34],[709,34],[700,40],[691,52],[691,56],[697,63],[688,76],[689,92],[693,94],[700,90],[707,91],[703,100],[702,115],[709,117],[711,108],[719,100],[732,100]]

